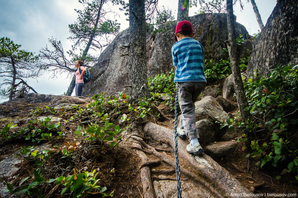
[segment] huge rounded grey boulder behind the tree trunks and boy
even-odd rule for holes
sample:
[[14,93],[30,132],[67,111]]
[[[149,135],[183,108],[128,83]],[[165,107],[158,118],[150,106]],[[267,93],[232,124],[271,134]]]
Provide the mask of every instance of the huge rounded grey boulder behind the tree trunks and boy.
[[[205,59],[211,59],[216,62],[223,58],[221,54],[223,47],[226,47],[224,41],[228,39],[227,16],[222,13],[201,14],[190,17],[195,36],[205,51]],[[171,48],[174,41],[174,32],[177,21],[172,21],[161,25],[163,31],[156,33],[147,33],[147,68],[148,77],[154,77],[160,73],[168,73],[173,69]],[[236,35],[242,34],[244,37],[250,37],[246,28],[236,23]],[[129,88],[123,88],[129,85],[128,56],[121,57],[121,54],[127,54],[127,49],[120,50],[121,45],[129,45],[129,29],[120,32],[111,44],[100,54],[98,62],[90,71],[92,78],[83,89],[83,96],[93,95],[95,93],[106,92],[114,95],[117,92],[128,92]]]

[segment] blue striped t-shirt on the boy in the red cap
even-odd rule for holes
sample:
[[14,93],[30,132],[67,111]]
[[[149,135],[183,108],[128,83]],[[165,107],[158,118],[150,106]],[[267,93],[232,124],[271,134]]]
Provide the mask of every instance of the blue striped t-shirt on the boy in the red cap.
[[172,47],[173,64],[177,66],[174,82],[205,81],[204,49],[201,43],[186,37]]

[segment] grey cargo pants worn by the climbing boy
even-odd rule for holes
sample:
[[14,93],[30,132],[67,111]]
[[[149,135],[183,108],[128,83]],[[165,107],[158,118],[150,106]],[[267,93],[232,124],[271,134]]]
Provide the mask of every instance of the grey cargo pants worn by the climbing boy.
[[196,129],[195,101],[199,97],[206,82],[178,82],[179,84],[179,106],[181,117],[179,127],[183,129],[186,136],[191,139],[199,138]]

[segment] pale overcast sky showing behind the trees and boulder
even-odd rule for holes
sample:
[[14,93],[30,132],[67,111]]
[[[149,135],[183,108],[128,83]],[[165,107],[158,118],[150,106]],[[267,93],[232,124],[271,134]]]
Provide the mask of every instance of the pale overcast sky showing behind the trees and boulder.
[[[240,11],[237,4],[234,6],[234,14],[237,16],[237,22],[244,25],[252,35],[260,28],[251,3],[242,1],[245,2],[244,10]],[[276,0],[255,2],[265,24],[276,5]],[[159,0],[159,6],[163,5],[169,7],[177,19],[178,0]],[[78,17],[74,9],[83,9],[78,0],[0,0],[0,38],[8,37],[15,44],[22,45],[21,49],[34,52],[35,55],[52,37],[60,40],[64,49],[70,49],[72,41],[67,40],[70,36],[68,25],[75,23]],[[120,31],[128,28],[129,22],[125,20],[127,17],[124,13],[119,11],[117,6],[112,9],[120,15],[115,18],[121,24]],[[199,7],[190,8],[189,16],[193,16],[198,10]],[[99,55],[99,52],[94,53]],[[30,79],[28,84],[38,93],[61,95],[67,91],[70,84],[70,78],[66,77],[67,75],[60,75],[52,79],[45,73],[37,80]],[[0,100],[3,101],[5,100]]]

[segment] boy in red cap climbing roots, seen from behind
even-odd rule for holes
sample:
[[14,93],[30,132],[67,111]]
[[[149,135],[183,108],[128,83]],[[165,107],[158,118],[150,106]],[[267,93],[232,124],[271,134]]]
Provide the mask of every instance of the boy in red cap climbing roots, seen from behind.
[[204,74],[204,49],[194,36],[192,24],[180,21],[176,26],[175,41],[172,47],[175,66],[174,82],[179,84],[179,105],[182,112],[177,135],[189,138],[187,153],[199,155],[204,152],[198,141],[194,102],[206,84]]

